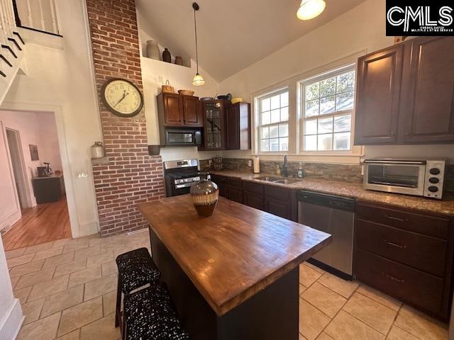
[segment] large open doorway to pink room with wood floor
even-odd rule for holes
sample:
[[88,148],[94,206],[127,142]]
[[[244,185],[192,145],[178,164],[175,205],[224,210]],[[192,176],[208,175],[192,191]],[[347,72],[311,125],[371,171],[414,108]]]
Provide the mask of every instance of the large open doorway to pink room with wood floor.
[[[1,162],[9,164],[8,188],[1,198],[7,208],[0,217],[13,215],[2,235],[5,250],[72,237],[65,192],[60,139],[55,113],[0,111],[3,139]],[[1,220],[5,225],[5,219]],[[0,225],[0,229],[2,229]],[[7,228],[7,229],[6,229]]]

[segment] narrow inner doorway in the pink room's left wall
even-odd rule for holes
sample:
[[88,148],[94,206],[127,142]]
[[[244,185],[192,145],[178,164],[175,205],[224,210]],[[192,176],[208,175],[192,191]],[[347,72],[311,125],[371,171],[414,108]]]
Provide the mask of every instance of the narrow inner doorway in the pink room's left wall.
[[21,146],[21,135],[17,130],[6,128],[6,139],[8,140],[9,155],[13,168],[14,181],[18,194],[21,215],[24,215],[31,208],[30,193],[28,192],[26,167],[23,161]]

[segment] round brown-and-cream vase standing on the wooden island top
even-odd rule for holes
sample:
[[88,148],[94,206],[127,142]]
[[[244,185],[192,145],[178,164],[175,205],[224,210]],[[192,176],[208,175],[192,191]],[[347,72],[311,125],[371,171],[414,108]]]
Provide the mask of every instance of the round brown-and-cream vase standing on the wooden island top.
[[191,187],[191,197],[197,214],[203,217],[213,215],[218,202],[219,189],[216,183],[207,179],[208,174],[201,174],[201,181]]

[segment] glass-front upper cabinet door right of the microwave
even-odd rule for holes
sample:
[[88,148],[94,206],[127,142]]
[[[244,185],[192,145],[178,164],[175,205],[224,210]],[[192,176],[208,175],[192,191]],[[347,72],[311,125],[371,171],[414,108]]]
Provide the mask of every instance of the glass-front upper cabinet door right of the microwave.
[[204,111],[204,149],[225,149],[225,107],[226,101],[211,100],[203,102]]

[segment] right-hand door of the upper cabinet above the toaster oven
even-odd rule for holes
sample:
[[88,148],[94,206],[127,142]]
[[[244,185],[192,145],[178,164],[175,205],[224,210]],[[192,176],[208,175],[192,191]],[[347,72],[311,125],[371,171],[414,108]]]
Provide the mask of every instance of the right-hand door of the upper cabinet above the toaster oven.
[[454,142],[454,37],[426,37],[405,47],[403,142]]

